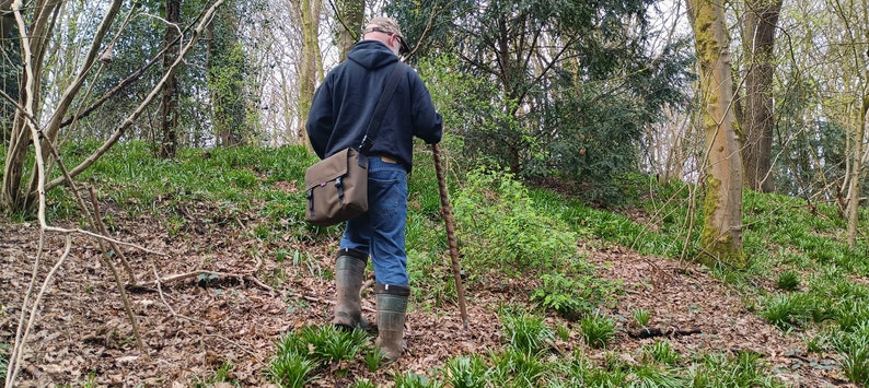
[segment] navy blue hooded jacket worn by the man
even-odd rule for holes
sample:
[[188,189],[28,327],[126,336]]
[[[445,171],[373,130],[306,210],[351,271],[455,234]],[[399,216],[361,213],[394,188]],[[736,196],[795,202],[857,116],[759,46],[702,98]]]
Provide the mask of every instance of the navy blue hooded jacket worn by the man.
[[393,157],[409,172],[414,136],[428,144],[440,142],[442,137],[443,120],[434,110],[428,89],[416,71],[399,62],[380,42],[362,40],[347,58],[326,75],[314,94],[305,125],[311,145],[320,158],[349,146],[359,149],[392,66],[396,64],[402,67],[402,78],[369,155]]

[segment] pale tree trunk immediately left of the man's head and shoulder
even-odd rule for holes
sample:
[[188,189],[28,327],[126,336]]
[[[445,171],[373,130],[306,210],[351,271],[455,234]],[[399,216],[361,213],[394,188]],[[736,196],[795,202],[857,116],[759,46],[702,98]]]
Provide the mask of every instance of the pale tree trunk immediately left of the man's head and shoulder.
[[[314,98],[316,89],[317,63],[320,63],[320,8],[321,0],[301,0],[299,2],[299,16],[302,20],[302,60],[299,69],[299,131],[298,139],[301,144],[311,148],[308,132],[304,129],[308,122],[308,110]],[[313,151],[313,150],[312,150]]]

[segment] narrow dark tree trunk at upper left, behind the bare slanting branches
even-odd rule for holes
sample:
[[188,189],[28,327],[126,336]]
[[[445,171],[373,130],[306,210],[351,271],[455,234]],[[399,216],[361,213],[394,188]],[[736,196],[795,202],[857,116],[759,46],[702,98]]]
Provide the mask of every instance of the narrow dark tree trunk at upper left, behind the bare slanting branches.
[[181,0],[166,0],[166,22],[170,24],[166,25],[166,33],[163,37],[163,42],[167,46],[172,45],[172,47],[166,50],[165,56],[163,56],[163,71],[169,72],[166,84],[163,86],[163,101],[161,104],[163,140],[160,142],[160,157],[163,158],[175,157],[175,151],[177,151],[178,146],[178,81],[175,77],[172,63],[175,62],[178,55],[178,42],[175,40],[175,37],[179,34],[177,30],[179,21]]

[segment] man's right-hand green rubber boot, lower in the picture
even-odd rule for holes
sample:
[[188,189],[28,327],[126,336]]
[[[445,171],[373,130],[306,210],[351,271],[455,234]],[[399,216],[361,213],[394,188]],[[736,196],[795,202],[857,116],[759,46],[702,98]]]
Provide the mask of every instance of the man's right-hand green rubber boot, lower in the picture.
[[404,320],[410,287],[376,284],[374,294],[378,296],[378,340],[374,344],[383,352],[383,360],[392,363],[402,356],[405,348]]

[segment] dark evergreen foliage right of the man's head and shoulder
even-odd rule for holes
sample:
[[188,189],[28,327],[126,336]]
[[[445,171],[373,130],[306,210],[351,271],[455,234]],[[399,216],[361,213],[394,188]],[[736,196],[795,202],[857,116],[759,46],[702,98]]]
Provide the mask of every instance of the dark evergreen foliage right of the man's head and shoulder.
[[466,160],[569,178],[587,185],[587,198],[617,202],[618,179],[639,165],[644,129],[664,107],[684,107],[692,81],[685,40],[656,58],[644,51],[646,5],[459,1],[396,3],[387,12],[418,42],[420,66],[460,58],[422,71],[437,74],[432,89],[449,91],[434,99],[445,116],[462,118],[447,126]]

